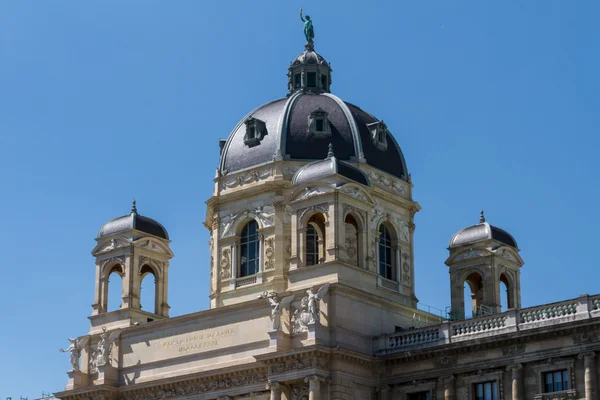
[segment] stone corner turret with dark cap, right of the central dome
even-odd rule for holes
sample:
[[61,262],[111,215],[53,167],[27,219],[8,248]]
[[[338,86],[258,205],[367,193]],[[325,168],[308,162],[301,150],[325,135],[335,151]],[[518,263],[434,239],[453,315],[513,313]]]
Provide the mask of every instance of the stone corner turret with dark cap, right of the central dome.
[[464,319],[464,286],[471,291],[473,316],[502,311],[501,284],[506,286],[504,305],[521,307],[520,268],[523,259],[515,239],[505,230],[486,222],[483,211],[479,223],[458,231],[450,240],[450,296],[452,319]]

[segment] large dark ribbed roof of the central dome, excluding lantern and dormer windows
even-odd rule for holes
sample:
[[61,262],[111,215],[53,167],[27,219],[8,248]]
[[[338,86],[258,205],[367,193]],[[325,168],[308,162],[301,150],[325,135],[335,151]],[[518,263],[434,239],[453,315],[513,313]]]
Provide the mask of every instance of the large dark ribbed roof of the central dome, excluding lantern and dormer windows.
[[[311,135],[308,129],[310,115],[319,109],[327,113],[331,128],[327,137]],[[264,136],[258,145],[245,142],[249,117],[264,122]],[[376,122],[371,114],[331,93],[297,91],[256,108],[240,121],[223,147],[219,170],[227,174],[280,159],[323,160],[332,143],[338,159],[366,162],[406,180],[406,162],[394,137],[386,131],[385,149],[374,143],[367,125]]]

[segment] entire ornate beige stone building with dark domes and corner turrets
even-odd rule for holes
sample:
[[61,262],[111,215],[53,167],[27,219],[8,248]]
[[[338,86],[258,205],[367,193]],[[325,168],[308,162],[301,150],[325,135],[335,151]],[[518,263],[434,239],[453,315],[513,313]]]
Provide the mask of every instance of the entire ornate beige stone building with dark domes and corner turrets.
[[169,318],[169,235],[135,204],[101,228],[90,331],[58,398],[598,399],[600,295],[521,308],[517,242],[483,214],[450,241],[451,318],[417,309],[401,148],[331,83],[308,42],[287,95],[220,143],[209,310]]

